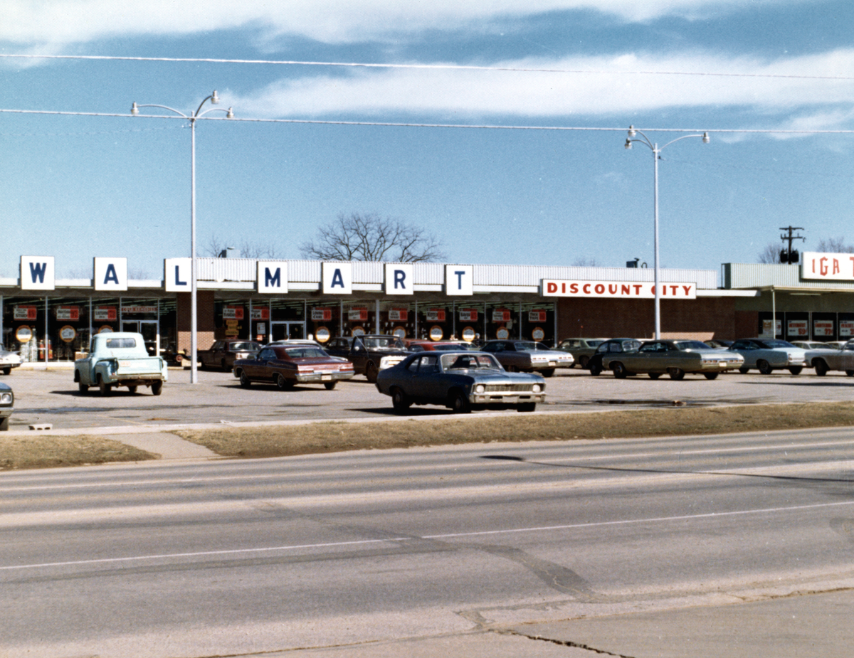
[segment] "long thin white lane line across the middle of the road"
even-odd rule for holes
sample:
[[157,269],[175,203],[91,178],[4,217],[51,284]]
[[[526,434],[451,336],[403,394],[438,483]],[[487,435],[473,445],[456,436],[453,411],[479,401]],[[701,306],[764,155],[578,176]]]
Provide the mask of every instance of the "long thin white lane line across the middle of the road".
[[351,541],[326,542],[323,544],[292,544],[288,546],[268,546],[266,548],[230,549],[230,550],[199,550],[191,553],[162,553],[159,555],[102,557],[96,560],[71,560],[67,562],[37,562],[33,564],[14,564],[0,567],[0,571],[15,571],[22,569],[42,569],[51,567],[76,567],[87,564],[116,564],[120,562],[142,562],[143,560],[170,560],[181,557],[210,557],[210,556],[241,556],[249,554],[271,553],[275,551],[337,548],[342,546],[360,546],[367,544],[400,543],[427,539],[461,539],[465,537],[484,537],[496,534],[547,533],[578,528],[609,527],[633,525],[638,523],[662,523],[670,521],[694,521],[699,519],[725,518],[728,516],[746,516],[759,514],[775,514],[777,512],[792,512],[802,510],[819,510],[822,508],[854,505],[854,500],[836,503],[816,503],[810,505],[793,505],[791,507],[768,507],[757,510],[739,510],[733,512],[706,512],[705,514],[656,516],[646,519],[623,519],[622,521],[594,521],[591,523],[569,523],[561,526],[535,526],[508,528],[505,530],[480,530],[470,533],[442,533],[424,536],[391,537],[388,539],[353,539]]

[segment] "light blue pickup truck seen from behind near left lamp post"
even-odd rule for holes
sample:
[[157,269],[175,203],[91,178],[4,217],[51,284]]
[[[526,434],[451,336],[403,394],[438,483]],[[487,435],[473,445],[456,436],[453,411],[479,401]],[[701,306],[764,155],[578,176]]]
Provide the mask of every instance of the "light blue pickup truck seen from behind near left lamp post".
[[160,395],[168,378],[166,361],[149,357],[142,334],[97,334],[89,356],[74,362],[74,381],[80,393],[87,393],[91,386],[97,386],[102,395],[109,395],[114,386],[126,386],[131,393],[147,386]]

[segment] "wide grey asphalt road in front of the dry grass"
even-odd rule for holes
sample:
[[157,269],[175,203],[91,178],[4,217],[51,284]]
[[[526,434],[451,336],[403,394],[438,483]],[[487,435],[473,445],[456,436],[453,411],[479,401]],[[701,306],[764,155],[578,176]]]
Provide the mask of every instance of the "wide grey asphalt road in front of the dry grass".
[[[3,473],[0,655],[506,649],[851,587],[852,459],[826,429]],[[595,655],[524,641],[483,655]]]

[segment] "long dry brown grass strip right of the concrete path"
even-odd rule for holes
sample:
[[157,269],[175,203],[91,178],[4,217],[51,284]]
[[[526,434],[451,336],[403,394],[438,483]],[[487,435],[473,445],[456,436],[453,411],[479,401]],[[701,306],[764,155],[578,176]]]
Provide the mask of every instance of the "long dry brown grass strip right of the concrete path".
[[465,420],[317,422],[263,428],[180,430],[178,436],[227,457],[283,457],[489,441],[613,439],[727,434],[854,425],[854,403],[517,414]]

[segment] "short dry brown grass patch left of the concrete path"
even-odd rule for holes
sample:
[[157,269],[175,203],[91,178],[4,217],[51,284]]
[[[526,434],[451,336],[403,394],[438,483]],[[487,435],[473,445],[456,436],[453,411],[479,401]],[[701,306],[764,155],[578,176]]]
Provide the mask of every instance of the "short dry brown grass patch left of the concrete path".
[[0,470],[51,469],[156,458],[150,452],[99,436],[0,437]]

